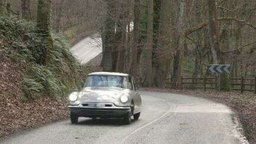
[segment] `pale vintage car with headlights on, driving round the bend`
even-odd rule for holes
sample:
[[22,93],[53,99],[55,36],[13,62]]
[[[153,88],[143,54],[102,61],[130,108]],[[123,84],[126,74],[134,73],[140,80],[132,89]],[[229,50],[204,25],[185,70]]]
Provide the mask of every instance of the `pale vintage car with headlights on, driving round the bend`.
[[78,117],[123,118],[130,124],[139,119],[142,99],[132,76],[116,72],[94,72],[88,75],[82,91],[69,95],[71,122]]

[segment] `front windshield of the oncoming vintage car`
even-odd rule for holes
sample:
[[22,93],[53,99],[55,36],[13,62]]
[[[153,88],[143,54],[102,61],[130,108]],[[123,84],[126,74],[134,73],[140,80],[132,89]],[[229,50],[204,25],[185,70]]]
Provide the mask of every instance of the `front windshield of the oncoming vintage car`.
[[132,89],[127,76],[88,76],[85,87],[114,87]]

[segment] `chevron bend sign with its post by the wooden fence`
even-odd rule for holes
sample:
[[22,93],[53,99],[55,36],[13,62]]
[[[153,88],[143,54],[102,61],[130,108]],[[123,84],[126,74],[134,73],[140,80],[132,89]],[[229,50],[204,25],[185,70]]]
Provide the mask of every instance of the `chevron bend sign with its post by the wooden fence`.
[[209,65],[208,71],[216,74],[218,90],[220,91],[220,73],[230,73],[231,65]]

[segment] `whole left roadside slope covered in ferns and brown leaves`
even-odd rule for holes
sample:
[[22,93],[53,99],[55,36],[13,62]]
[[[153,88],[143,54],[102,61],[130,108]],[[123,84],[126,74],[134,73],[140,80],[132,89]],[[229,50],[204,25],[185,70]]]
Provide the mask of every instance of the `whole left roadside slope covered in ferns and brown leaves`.
[[66,96],[81,88],[88,69],[76,62],[62,34],[40,65],[42,37],[35,24],[0,17],[0,137],[68,117]]

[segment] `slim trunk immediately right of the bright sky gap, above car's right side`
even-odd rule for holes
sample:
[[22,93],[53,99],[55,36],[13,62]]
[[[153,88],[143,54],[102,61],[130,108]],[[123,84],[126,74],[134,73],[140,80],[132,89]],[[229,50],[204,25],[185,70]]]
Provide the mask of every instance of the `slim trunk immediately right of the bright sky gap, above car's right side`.
[[132,47],[132,76],[135,79],[137,76],[137,53],[138,53],[138,47],[139,47],[139,33],[140,33],[139,24],[140,24],[140,0],[135,0],[133,47]]

